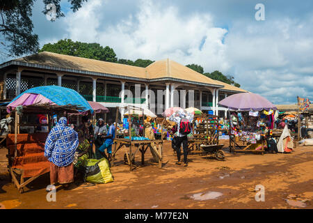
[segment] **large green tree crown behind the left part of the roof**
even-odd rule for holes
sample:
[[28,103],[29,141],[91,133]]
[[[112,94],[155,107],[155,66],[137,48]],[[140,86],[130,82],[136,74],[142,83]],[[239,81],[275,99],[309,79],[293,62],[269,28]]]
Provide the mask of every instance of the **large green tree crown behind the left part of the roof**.
[[108,46],[102,47],[99,43],[73,42],[70,39],[59,40],[58,43],[54,44],[45,44],[39,52],[44,51],[79,56],[99,61],[118,61],[114,50]]

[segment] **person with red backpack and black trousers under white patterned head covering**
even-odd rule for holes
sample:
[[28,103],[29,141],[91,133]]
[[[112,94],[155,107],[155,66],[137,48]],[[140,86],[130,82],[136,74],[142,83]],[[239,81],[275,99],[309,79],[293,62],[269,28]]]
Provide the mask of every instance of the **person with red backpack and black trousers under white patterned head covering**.
[[191,123],[193,121],[193,114],[186,112],[186,110],[178,110],[169,117],[170,121],[177,123],[177,162],[176,164],[180,165],[180,146],[183,144],[184,151],[184,167],[188,166],[187,155],[188,155],[188,137],[187,134],[190,134],[192,131]]

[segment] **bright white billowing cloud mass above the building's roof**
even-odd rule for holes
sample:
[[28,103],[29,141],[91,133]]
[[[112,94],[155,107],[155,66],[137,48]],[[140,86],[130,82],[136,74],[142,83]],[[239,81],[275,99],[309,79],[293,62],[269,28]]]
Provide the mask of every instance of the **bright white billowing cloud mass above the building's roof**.
[[[214,27],[209,13],[180,17],[177,8],[164,7],[152,1],[141,1],[140,10],[121,20],[115,26],[100,24],[97,14],[100,1],[88,8],[67,15],[68,31],[74,40],[98,40],[113,47],[119,58],[166,59],[179,63],[198,63],[204,70],[227,70],[225,45],[222,40],[226,29]],[[87,6],[87,5],[86,5]],[[81,29],[83,24],[88,24]],[[202,49],[200,44],[207,36]]]

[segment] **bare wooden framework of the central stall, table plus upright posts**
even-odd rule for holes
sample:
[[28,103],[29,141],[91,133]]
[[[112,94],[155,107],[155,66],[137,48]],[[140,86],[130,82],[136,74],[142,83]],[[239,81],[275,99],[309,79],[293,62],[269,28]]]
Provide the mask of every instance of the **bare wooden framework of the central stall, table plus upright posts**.
[[[138,151],[141,152],[141,164],[145,164],[145,152],[147,151],[147,148],[151,148],[157,157],[159,158],[159,167],[162,167],[162,161],[163,161],[163,140],[161,139],[153,139],[153,140],[136,140],[135,137],[131,137],[131,118],[135,117],[131,114],[130,109],[133,109],[134,106],[129,105],[128,107],[125,107],[124,109],[128,110],[128,126],[129,126],[129,137],[128,138],[118,138],[117,137],[117,130],[118,130],[118,114],[119,114],[119,107],[116,110],[116,119],[115,119],[115,139],[114,142],[114,149],[112,153],[112,160],[111,160],[111,167],[114,165],[115,161],[115,155],[120,151],[120,148],[123,146],[126,146],[128,148],[128,152],[126,153],[127,157],[127,164],[129,165],[129,171],[133,170],[134,165],[134,159]],[[140,109],[140,108],[139,108]],[[141,118],[140,116],[136,116],[138,118]],[[142,116],[144,119],[144,116]],[[143,137],[145,137],[145,130],[143,130]],[[152,144],[157,145],[157,149],[152,146]]]

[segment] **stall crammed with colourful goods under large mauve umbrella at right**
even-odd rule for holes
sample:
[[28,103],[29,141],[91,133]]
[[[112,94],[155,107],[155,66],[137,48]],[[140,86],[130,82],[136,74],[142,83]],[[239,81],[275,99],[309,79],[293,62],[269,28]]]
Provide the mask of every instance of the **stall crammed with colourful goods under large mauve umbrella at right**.
[[218,105],[227,107],[230,115],[230,151],[263,155],[266,134],[271,134],[274,126],[275,105],[250,92],[231,95]]

